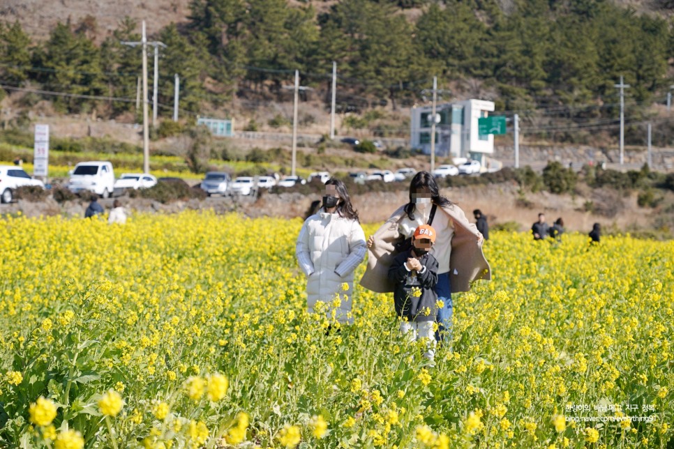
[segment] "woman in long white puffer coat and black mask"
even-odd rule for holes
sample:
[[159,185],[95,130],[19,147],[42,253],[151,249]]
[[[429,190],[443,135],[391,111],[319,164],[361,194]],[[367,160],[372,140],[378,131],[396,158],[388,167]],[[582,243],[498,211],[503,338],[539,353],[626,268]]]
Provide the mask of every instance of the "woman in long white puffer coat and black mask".
[[[323,206],[302,226],[295,255],[307,277],[306,301],[310,313],[318,301],[327,307],[326,317],[352,324],[354,270],[367,252],[365,234],[342,181],[325,183]],[[343,289],[347,284],[348,289]],[[335,307],[336,296],[340,298]]]

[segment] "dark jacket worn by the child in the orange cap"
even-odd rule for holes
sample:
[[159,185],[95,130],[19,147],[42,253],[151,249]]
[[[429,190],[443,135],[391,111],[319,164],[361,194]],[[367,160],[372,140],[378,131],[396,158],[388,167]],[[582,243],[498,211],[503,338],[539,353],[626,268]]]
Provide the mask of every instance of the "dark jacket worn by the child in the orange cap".
[[[411,251],[398,254],[389,267],[389,279],[395,283],[394,300],[398,317],[407,317],[409,321],[435,321],[435,284],[437,284],[437,260],[430,254],[424,254],[419,258],[422,267],[426,267],[417,273],[416,279],[411,271],[405,268],[405,262],[412,257]],[[421,290],[421,296],[412,296],[412,288]],[[427,309],[428,307],[428,309]],[[426,310],[430,313],[426,314]]]

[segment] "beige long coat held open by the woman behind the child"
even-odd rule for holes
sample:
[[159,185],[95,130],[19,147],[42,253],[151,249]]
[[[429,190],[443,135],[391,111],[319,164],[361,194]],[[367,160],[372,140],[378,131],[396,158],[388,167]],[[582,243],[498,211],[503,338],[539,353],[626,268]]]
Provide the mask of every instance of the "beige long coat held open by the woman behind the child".
[[[400,241],[398,223],[405,216],[405,206],[400,206],[382,227],[374,234],[374,243],[368,249],[368,268],[361,279],[361,286],[377,293],[394,291],[394,284],[388,278],[389,266],[396,254],[394,243]],[[470,290],[470,282],[478,279],[490,280],[491,270],[482,252],[481,234],[477,227],[465,218],[465,213],[454,204],[438,207],[436,213],[446,213],[454,223],[449,258],[449,283],[451,292]],[[436,229],[441,233],[443,229]]]

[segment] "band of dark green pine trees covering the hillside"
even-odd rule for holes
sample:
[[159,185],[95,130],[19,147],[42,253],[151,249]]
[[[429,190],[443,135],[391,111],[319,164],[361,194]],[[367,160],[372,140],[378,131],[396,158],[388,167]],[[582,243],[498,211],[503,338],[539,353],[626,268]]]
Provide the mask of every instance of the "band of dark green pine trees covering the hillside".
[[[498,111],[528,116],[541,138],[563,141],[551,125],[557,117],[596,119],[597,129],[615,119],[620,76],[637,122],[672,84],[667,10],[638,13],[610,1],[192,0],[188,10],[149,38],[167,45],[160,104],[172,104],[177,73],[181,109],[193,114],[226,116],[234,98],[285,101],[294,70],[328,105],[336,61],[340,111],[409,107],[427,100],[437,75],[454,98],[493,100]],[[28,106],[46,98],[66,114],[133,116],[140,49],[123,40],[140,40],[129,17],[102,40],[92,17],[58,23],[44,40],[19,22],[0,24],[0,96],[29,89]],[[656,138],[668,144],[670,135]]]

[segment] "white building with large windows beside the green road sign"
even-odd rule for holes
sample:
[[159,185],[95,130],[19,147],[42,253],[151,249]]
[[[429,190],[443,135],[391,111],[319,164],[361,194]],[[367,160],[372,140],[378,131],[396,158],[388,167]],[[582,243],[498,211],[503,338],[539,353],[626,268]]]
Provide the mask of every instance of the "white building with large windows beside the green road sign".
[[[412,108],[410,146],[430,154],[430,114],[432,107]],[[493,112],[494,103],[485,100],[465,100],[436,105],[440,123],[435,125],[435,155],[440,157],[479,160],[494,153],[494,136],[480,135],[477,120]]]

